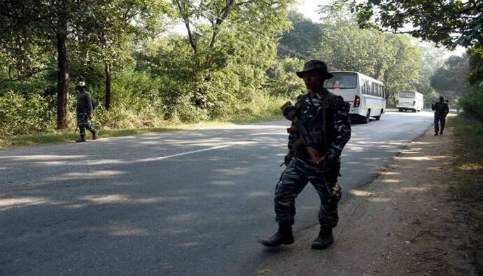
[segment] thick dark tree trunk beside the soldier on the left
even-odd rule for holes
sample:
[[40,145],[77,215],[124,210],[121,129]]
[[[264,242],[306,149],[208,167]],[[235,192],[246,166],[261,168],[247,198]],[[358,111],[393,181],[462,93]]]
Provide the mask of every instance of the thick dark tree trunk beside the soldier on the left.
[[62,1],[57,29],[57,129],[69,127],[69,53],[67,53],[67,7]]

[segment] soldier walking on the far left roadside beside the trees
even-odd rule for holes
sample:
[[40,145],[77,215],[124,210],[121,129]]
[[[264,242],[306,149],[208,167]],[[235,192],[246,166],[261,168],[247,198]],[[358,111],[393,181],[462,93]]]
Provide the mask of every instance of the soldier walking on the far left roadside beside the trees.
[[92,119],[92,100],[89,92],[85,88],[85,83],[81,81],[77,86],[77,125],[79,127],[80,139],[76,142],[85,142],[85,129],[92,132],[92,139],[97,139],[98,132],[90,125]]

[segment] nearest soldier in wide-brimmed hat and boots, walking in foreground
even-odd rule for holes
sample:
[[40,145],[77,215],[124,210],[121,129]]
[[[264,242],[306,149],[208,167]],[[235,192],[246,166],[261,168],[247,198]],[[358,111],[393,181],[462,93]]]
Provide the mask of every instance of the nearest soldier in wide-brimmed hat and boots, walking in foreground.
[[351,138],[349,104],[323,88],[326,79],[331,78],[324,62],[311,60],[304,64],[304,70],[297,72],[303,78],[309,92],[297,97],[294,106],[283,110],[288,120],[297,118],[307,128],[315,149],[323,155],[324,164],[317,166],[311,161],[298,134],[288,137],[286,170],[275,188],[275,214],[279,230],[265,240],[259,240],[267,247],[293,243],[292,225],[295,216],[295,198],[310,182],[318,193],[321,207],[318,211],[320,233],[311,244],[313,249],[324,249],[334,242],[332,228],[337,226],[337,203],[341,188],[337,184],[340,170],[340,155]]

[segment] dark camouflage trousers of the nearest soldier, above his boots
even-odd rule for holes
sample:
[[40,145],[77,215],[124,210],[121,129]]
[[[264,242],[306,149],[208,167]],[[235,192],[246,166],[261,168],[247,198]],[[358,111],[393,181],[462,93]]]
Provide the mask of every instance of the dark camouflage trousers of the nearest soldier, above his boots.
[[[338,173],[338,172],[337,172]],[[321,226],[337,226],[339,216],[337,204],[342,196],[337,182],[325,181],[324,171],[308,163],[293,158],[275,188],[275,214],[277,223],[294,223],[295,198],[310,182],[318,193],[321,207],[318,210],[318,222]]]

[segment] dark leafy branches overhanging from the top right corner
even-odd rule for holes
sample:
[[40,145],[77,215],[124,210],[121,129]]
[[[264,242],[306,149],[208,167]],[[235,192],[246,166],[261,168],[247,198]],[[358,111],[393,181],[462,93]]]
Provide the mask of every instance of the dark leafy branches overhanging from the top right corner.
[[[447,48],[483,46],[483,1],[351,1],[360,27],[411,34]],[[373,20],[373,21],[372,21]],[[407,29],[407,25],[412,25]]]

